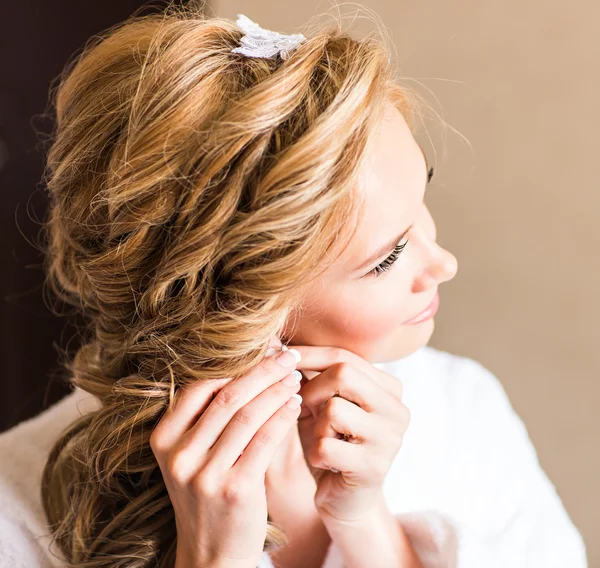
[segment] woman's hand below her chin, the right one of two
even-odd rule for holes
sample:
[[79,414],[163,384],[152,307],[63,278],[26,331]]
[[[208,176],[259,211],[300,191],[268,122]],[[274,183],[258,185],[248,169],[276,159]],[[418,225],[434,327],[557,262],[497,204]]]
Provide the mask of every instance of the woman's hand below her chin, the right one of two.
[[346,349],[289,347],[302,355],[298,370],[319,373],[308,374],[299,391],[298,418],[304,457],[317,482],[315,506],[334,521],[360,520],[381,503],[383,481],[410,422],[402,383]]

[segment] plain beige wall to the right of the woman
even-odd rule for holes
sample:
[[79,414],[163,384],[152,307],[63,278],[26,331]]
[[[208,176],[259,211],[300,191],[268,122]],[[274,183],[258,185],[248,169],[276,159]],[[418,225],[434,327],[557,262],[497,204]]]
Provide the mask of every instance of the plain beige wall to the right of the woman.
[[501,380],[600,567],[600,4],[213,0],[209,11],[296,33],[340,10],[361,36],[374,30],[361,7],[383,20],[399,76],[470,141],[433,119],[417,134],[436,166],[438,240],[459,264],[430,345]]

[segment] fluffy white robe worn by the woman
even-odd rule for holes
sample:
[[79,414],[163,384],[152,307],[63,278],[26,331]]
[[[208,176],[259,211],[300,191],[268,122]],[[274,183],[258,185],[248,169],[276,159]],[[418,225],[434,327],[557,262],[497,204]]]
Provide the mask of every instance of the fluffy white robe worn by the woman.
[[[402,381],[411,413],[383,492],[425,568],[587,568],[583,539],[493,373],[430,346],[375,366]],[[96,404],[75,389],[0,434],[0,567],[63,566],[49,550],[39,480],[53,440]],[[258,568],[272,567],[263,552]],[[322,568],[343,567],[332,542]]]

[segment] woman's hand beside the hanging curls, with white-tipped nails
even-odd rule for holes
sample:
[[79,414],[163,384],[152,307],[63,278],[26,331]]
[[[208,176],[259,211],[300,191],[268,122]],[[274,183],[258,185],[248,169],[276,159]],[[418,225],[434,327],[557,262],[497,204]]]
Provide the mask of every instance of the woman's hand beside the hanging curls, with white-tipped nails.
[[224,387],[200,381],[182,388],[152,432],[175,512],[176,568],[258,565],[267,533],[265,475],[300,414],[299,381],[282,382],[301,376],[294,351],[265,357]]

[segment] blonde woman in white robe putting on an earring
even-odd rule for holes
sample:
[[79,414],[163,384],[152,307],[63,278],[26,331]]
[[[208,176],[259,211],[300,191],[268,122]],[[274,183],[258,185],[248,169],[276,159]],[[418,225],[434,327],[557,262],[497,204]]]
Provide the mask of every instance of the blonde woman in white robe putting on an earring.
[[500,382],[427,346],[418,97],[373,37],[251,24],[132,16],[53,93],[48,283],[89,333],[0,436],[0,564],[583,568]]

